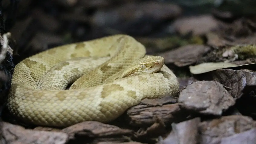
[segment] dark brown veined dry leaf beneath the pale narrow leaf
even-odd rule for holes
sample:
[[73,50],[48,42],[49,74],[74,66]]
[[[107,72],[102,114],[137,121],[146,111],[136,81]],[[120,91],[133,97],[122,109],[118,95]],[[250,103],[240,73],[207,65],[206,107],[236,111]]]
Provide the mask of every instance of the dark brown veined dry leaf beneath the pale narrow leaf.
[[231,87],[229,93],[238,98],[246,85],[256,84],[256,73],[247,70],[216,70],[211,72],[215,81]]

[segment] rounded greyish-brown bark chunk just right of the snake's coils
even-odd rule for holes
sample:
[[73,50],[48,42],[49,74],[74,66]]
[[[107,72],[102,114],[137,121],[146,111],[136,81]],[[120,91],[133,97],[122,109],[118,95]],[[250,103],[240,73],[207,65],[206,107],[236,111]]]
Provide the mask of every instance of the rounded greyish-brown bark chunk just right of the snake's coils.
[[202,114],[221,115],[235,104],[234,98],[216,81],[197,81],[180,92],[182,107]]

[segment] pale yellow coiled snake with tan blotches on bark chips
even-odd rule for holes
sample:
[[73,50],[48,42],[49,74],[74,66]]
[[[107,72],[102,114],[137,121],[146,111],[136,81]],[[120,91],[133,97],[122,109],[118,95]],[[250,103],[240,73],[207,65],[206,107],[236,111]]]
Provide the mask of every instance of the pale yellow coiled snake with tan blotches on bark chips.
[[147,55],[134,37],[117,34],[57,46],[19,62],[7,108],[26,124],[109,123],[145,98],[178,91],[163,57]]

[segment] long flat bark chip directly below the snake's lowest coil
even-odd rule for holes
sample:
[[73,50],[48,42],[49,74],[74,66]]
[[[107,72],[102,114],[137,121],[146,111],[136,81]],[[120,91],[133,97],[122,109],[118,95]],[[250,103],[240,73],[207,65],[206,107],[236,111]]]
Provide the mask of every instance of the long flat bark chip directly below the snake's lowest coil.
[[122,135],[132,135],[132,130],[122,129],[118,126],[104,124],[98,121],[84,121],[64,128],[62,131],[68,133],[71,138],[74,138],[75,134],[89,137],[117,137]]

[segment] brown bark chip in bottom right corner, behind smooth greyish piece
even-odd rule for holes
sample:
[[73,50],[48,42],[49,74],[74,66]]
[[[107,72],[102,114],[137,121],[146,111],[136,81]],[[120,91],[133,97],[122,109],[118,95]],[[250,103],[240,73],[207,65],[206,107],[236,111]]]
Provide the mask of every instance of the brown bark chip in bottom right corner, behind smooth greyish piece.
[[[201,143],[216,143],[222,141],[222,138],[225,137],[226,139],[224,140],[226,141],[229,136],[233,136],[229,139],[233,139],[235,137],[241,138],[244,136],[238,136],[236,134],[248,131],[255,127],[256,121],[254,121],[251,117],[242,115],[223,116],[219,119],[204,121],[199,127],[199,131],[201,133]],[[251,132],[253,132],[252,134],[254,134],[255,137],[255,129]]]

